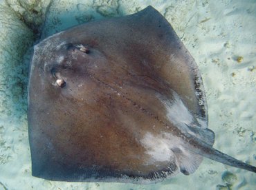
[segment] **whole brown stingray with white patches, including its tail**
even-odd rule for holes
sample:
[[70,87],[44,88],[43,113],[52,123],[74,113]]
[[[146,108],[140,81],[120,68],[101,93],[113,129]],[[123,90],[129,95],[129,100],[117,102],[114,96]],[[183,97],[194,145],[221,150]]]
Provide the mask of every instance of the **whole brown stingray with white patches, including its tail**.
[[151,6],[35,45],[28,90],[33,176],[156,182],[203,157],[256,171],[212,148],[199,69]]

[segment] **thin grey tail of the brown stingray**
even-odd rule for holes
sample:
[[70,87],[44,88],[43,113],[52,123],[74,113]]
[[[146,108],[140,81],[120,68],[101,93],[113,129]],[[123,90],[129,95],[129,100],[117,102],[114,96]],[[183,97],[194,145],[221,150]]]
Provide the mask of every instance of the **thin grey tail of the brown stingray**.
[[[195,139],[194,139],[195,140]],[[211,160],[215,160],[217,162],[221,162],[225,165],[230,165],[232,167],[237,167],[241,169],[246,169],[248,171],[253,171],[256,173],[256,167],[252,165],[248,165],[245,162],[242,162],[240,160],[237,160],[233,158],[232,156],[228,156],[227,154],[224,154],[221,151],[218,151],[217,149],[214,149],[210,145],[204,142],[200,142],[201,140],[196,139],[197,143],[193,143],[196,145],[196,149],[191,149],[191,151],[194,151],[196,154],[199,154],[201,156],[204,156],[206,158],[210,158]]]

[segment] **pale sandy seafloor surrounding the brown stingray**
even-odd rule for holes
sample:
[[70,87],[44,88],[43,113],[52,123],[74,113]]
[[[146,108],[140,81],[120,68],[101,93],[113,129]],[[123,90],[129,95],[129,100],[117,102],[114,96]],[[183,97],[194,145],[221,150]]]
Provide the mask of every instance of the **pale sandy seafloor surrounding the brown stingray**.
[[35,178],[26,120],[28,63],[37,31],[44,39],[72,25],[152,5],[170,21],[199,65],[209,128],[216,134],[214,147],[256,165],[255,0],[0,0],[0,4],[0,189],[256,189],[255,173],[207,158],[192,175],[179,174],[156,184]]

